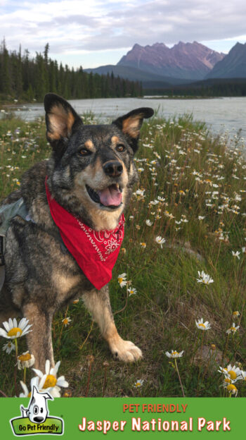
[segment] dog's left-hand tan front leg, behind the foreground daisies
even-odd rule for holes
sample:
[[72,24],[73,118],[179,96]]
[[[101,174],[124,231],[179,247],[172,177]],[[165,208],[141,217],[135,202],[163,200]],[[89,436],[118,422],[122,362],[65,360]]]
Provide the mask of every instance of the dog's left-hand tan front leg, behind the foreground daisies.
[[23,316],[29,319],[28,324],[32,324],[32,331],[27,334],[27,346],[35,357],[34,367],[45,373],[47,359],[51,361],[51,367],[55,365],[51,334],[53,313],[42,312],[34,303],[26,304],[22,312]]

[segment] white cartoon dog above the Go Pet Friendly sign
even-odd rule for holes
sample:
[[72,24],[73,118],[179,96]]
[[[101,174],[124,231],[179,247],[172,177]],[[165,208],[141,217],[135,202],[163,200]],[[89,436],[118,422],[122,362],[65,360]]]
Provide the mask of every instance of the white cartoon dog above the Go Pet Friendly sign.
[[20,406],[22,417],[29,417],[30,422],[44,423],[48,416],[48,408],[46,400],[53,397],[48,393],[39,393],[36,386],[32,387],[32,396],[28,408]]

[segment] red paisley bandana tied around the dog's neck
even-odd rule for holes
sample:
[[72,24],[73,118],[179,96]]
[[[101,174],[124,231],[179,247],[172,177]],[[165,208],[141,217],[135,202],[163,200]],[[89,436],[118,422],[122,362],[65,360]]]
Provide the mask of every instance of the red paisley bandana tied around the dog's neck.
[[46,182],[45,185],[51,216],[63,243],[89,281],[100,290],[112,278],[112,268],[124,238],[124,214],[114,230],[94,231],[61,207],[51,197]]

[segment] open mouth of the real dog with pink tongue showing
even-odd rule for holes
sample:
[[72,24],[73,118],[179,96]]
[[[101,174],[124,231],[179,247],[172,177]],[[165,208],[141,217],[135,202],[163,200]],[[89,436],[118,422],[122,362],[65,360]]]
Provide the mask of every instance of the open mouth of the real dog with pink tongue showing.
[[110,209],[117,209],[122,204],[122,187],[114,183],[104,190],[93,190],[89,185],[86,185],[86,190],[91,200],[100,204],[103,207]]

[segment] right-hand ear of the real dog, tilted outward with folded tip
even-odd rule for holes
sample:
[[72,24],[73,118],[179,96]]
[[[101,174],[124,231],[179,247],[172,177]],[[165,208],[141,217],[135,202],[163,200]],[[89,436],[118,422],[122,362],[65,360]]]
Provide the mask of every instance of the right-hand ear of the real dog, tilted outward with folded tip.
[[124,116],[115,119],[115,121],[112,121],[112,124],[115,124],[115,126],[122,130],[124,135],[127,135],[134,152],[137,149],[143,119],[151,118],[153,114],[154,111],[153,109],[150,109],[150,107],[141,107],[140,109],[132,110]]

